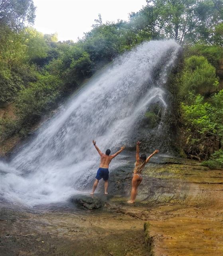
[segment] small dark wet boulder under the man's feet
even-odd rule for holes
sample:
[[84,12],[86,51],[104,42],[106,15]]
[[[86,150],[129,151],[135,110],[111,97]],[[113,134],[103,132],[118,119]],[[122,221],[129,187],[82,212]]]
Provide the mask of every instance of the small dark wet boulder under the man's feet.
[[71,202],[77,204],[77,206],[83,207],[88,210],[103,208],[105,202],[95,196],[75,195],[71,197]]

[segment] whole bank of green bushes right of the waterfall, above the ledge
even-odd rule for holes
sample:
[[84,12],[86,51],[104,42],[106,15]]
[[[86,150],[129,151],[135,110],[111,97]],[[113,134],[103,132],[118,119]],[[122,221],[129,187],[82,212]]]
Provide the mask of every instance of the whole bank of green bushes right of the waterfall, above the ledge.
[[[177,77],[180,98],[182,147],[188,155],[217,168],[219,149],[223,147],[223,91],[219,90],[214,65],[219,65],[218,46],[195,45],[185,49],[183,68]],[[191,55],[191,54],[197,54]],[[188,57],[189,56],[189,57]],[[178,97],[178,94],[176,95]],[[215,154],[216,152],[216,154]],[[211,167],[212,166],[212,167]],[[218,165],[219,168],[219,165]]]

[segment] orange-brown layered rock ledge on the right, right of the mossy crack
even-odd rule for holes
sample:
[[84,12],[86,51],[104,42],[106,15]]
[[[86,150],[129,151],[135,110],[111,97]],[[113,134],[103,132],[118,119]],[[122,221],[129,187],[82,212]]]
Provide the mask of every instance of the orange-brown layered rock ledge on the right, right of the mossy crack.
[[[222,256],[223,171],[169,164],[145,173],[147,178],[166,179],[166,192],[159,194],[158,186],[151,197],[135,206],[122,204],[116,211],[148,222],[153,255]],[[172,193],[168,184],[175,185]],[[141,197],[146,189],[145,183]]]

